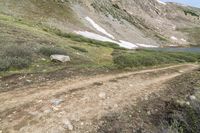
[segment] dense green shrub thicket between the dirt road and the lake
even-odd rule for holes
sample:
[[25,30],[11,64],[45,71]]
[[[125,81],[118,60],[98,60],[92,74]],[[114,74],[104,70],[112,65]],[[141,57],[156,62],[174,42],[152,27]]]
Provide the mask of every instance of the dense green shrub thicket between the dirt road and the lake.
[[115,51],[113,62],[119,68],[133,68],[143,66],[156,66],[170,63],[197,62],[200,53],[161,52],[150,50],[138,50],[135,52]]

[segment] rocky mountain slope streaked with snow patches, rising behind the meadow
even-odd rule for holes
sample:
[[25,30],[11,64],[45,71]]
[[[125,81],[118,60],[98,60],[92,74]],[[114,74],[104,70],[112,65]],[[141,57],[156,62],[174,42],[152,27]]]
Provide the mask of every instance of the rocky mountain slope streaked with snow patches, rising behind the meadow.
[[157,0],[1,0],[0,12],[122,47],[185,46],[200,10]]

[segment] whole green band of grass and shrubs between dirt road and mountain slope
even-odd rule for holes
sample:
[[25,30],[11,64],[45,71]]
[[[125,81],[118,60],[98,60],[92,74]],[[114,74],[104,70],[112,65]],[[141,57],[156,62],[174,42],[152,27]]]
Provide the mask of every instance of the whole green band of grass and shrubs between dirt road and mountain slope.
[[[48,73],[60,69],[109,69],[196,62],[199,54],[125,50],[113,43],[61,32],[55,27],[0,14],[0,75]],[[70,63],[50,61],[69,55]]]

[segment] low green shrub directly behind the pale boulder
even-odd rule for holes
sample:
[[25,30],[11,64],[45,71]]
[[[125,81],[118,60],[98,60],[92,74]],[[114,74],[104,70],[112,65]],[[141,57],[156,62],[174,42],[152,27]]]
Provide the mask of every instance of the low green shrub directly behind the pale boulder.
[[41,47],[39,53],[45,56],[51,56],[53,54],[64,54],[64,55],[67,54],[65,50],[57,47]]

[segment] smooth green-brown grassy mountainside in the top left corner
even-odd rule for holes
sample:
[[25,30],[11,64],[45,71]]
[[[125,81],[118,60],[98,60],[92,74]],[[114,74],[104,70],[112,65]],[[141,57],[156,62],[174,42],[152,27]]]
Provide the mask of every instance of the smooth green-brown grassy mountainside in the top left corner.
[[1,0],[0,12],[37,23],[79,24],[69,2],[60,0]]

